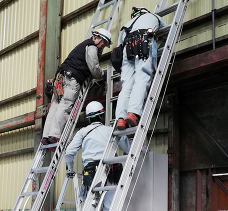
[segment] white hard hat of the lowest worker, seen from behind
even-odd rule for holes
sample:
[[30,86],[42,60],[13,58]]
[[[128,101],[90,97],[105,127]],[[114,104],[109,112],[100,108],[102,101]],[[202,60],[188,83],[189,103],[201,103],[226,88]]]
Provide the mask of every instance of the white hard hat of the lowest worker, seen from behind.
[[86,118],[94,118],[103,113],[104,106],[97,101],[92,101],[86,106]]

